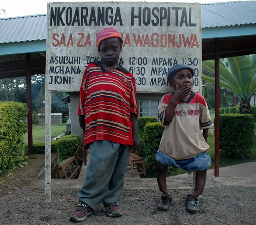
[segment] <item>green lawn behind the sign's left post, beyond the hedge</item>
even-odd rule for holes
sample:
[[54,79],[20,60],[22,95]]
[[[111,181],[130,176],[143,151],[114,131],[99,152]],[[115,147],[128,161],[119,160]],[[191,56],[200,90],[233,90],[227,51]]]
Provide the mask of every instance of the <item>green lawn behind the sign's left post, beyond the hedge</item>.
[[[66,131],[66,123],[52,124],[51,125],[51,137],[54,138]],[[33,142],[45,140],[45,126],[33,124],[32,128]],[[28,143],[28,133],[23,135],[24,142]]]

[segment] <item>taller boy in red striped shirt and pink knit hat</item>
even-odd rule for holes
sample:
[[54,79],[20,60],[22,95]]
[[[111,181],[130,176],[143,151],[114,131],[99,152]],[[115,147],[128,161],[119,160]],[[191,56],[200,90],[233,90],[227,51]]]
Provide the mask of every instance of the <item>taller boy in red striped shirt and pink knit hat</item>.
[[122,43],[117,30],[103,29],[97,36],[102,62],[89,63],[84,71],[78,115],[90,162],[71,221],[83,221],[97,212],[102,202],[108,216],[122,215],[117,202],[130,151],[139,146],[135,79],[119,65]]

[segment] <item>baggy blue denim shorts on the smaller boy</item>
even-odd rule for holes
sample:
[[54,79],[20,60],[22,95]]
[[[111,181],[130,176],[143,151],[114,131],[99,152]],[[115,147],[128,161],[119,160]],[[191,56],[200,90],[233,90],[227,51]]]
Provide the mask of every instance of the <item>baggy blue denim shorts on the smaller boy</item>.
[[193,158],[175,160],[158,150],[156,153],[156,160],[163,165],[172,166],[174,168],[181,167],[189,172],[205,170],[211,163],[210,155],[206,152],[202,152]]

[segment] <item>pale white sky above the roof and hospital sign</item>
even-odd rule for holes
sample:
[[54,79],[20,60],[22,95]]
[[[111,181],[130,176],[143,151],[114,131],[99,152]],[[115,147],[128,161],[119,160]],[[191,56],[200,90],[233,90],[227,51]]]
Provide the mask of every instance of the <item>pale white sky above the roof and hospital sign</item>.
[[[112,0],[115,1],[115,0]],[[240,0],[245,1],[245,0]],[[48,2],[104,2],[104,0],[94,1],[77,1],[77,0],[2,0],[0,3],[0,18],[16,17],[16,16],[28,16],[47,13]],[[139,2],[138,0],[129,0],[118,2]],[[141,1],[142,2],[142,1]],[[223,0],[147,0],[144,2],[187,2],[187,3],[213,3],[213,2],[236,2],[236,1],[223,1]]]

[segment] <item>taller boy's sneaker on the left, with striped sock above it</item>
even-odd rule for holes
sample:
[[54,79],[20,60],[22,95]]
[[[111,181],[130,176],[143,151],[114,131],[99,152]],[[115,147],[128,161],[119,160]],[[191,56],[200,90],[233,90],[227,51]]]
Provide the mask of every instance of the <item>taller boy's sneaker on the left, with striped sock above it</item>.
[[80,202],[75,211],[70,215],[69,220],[75,222],[81,222],[86,219],[87,216],[94,214],[93,210],[86,203]]

